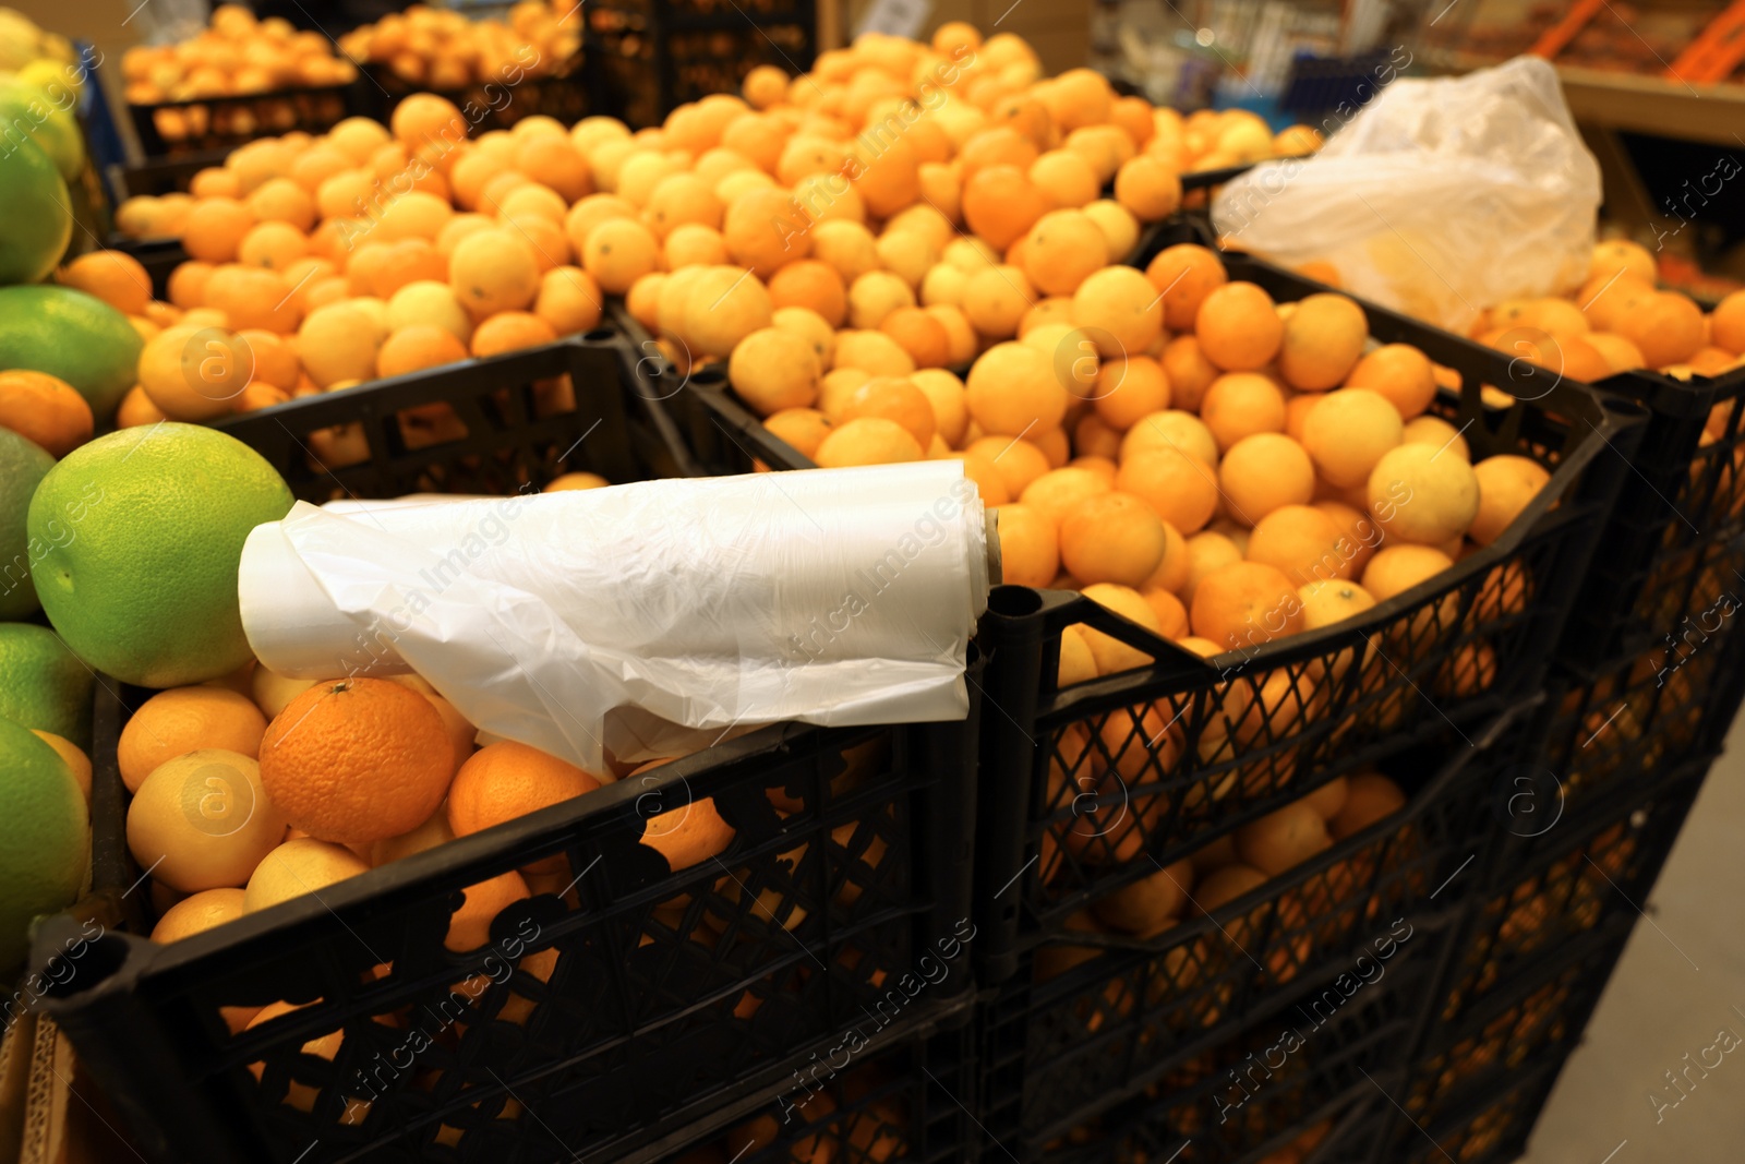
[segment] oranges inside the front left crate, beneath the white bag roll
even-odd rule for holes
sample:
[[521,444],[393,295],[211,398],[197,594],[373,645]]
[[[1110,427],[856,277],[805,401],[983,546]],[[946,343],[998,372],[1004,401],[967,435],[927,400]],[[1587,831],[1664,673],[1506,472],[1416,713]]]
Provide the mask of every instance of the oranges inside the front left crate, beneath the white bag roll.
[[[588,773],[475,736],[417,677],[311,682],[250,663],[154,695],[117,747],[127,846],[152,873],[152,937],[178,941],[667,763]],[[656,815],[644,834],[674,869],[731,839],[712,801]],[[478,949],[504,906],[562,892],[565,869],[558,857],[469,887],[447,946]]]

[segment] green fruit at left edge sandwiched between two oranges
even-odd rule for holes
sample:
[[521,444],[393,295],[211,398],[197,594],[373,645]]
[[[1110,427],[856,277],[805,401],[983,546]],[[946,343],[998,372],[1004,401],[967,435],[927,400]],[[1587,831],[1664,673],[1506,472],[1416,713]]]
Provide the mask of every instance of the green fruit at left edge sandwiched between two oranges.
[[[0,211],[5,209],[5,168],[0,159]],[[5,255],[5,229],[7,218],[0,213],[0,257]],[[94,295],[70,286],[0,286],[0,368],[61,377],[91,405],[98,428],[133,387],[141,347],[145,342],[127,316]]]

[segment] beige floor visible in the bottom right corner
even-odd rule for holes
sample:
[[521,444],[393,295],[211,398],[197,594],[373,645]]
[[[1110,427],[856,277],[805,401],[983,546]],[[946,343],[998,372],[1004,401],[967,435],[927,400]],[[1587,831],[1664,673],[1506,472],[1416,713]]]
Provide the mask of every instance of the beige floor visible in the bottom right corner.
[[[1745,1161],[1745,717],[1710,771],[1659,883],[1558,1077],[1522,1164]],[[1656,928],[1658,927],[1658,928]],[[1707,1052],[1721,1066],[1677,1106],[1665,1073]],[[1661,1096],[1656,1106],[1649,1096]]]

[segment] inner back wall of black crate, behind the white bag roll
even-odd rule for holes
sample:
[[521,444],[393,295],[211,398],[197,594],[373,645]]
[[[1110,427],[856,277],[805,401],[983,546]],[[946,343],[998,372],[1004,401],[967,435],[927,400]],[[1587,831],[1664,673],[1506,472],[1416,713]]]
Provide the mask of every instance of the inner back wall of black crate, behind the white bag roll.
[[304,501],[508,496],[588,469],[614,485],[696,476],[609,328],[225,417]]

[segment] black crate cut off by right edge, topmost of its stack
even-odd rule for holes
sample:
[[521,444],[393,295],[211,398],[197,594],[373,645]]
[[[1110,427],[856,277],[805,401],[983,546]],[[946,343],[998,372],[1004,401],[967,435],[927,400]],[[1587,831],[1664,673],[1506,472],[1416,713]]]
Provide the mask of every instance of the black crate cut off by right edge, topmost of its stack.
[[[1562,654],[1579,667],[1714,633],[1721,593],[1745,585],[1745,370],[1604,382],[1649,408]],[[1728,613],[1721,621],[1735,621]]]

